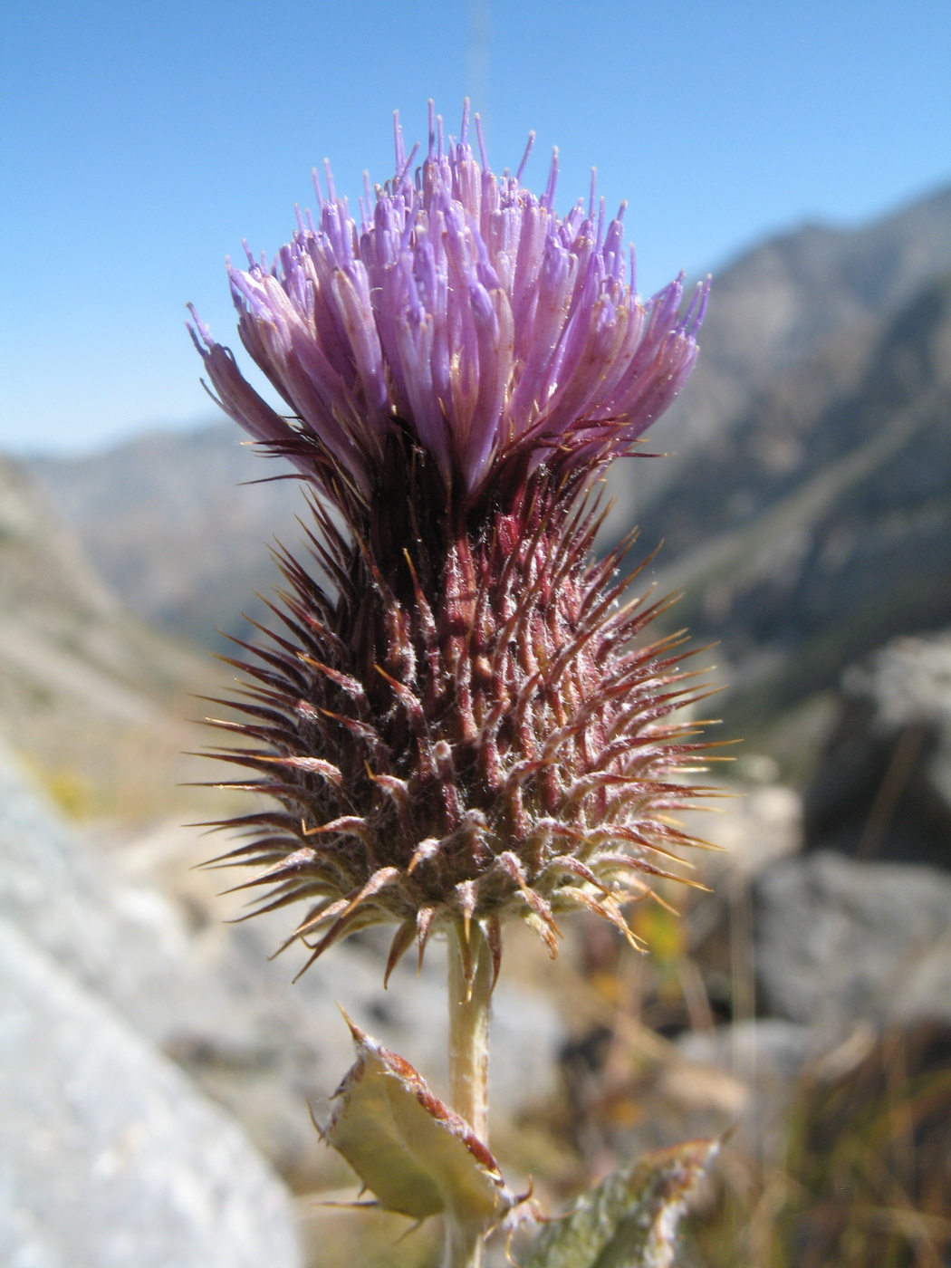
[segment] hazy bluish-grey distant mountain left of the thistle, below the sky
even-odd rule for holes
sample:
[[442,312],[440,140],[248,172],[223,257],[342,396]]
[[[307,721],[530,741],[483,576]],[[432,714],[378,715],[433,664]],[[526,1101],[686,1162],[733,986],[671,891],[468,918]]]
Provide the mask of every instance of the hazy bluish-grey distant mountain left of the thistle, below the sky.
[[129,611],[200,647],[246,631],[276,572],[268,543],[295,541],[307,507],[289,468],[227,421],[153,432],[100,454],[38,459],[34,473]]

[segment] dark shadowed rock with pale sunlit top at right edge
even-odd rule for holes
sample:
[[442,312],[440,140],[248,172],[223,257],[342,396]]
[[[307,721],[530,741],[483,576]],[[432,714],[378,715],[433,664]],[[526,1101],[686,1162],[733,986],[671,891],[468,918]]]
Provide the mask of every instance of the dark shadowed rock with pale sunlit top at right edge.
[[806,850],[951,867],[951,633],[895,639],[844,673],[805,831]]

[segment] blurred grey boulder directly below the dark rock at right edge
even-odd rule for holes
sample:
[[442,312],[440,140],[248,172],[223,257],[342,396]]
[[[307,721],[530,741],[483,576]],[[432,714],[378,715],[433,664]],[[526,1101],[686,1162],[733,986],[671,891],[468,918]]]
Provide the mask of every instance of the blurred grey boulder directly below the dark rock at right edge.
[[951,877],[823,852],[753,886],[763,1011],[841,1036],[861,1021],[951,1021]]

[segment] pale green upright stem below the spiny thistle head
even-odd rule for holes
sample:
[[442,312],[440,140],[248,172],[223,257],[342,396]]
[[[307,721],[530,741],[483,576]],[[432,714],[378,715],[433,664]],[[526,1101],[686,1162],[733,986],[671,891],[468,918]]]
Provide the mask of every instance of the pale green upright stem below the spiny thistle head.
[[[472,980],[467,981],[465,966]],[[449,935],[449,1101],[476,1135],[488,1140],[488,1021],[492,998],[492,955],[479,926],[462,926]],[[444,1268],[479,1268],[479,1224],[446,1212]]]

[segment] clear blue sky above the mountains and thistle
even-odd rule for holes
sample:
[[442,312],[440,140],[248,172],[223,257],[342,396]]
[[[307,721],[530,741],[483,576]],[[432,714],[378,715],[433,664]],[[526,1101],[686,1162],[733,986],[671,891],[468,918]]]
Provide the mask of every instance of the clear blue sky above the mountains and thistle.
[[184,303],[231,341],[224,256],[287,241],[325,156],[384,180],[394,108],[422,138],[469,94],[500,169],[534,128],[563,209],[596,165],[647,292],[950,183],[950,66],[948,0],[8,4],[0,450],[208,416]]

